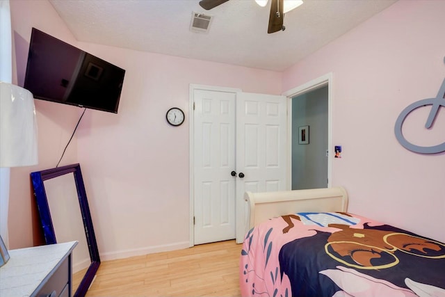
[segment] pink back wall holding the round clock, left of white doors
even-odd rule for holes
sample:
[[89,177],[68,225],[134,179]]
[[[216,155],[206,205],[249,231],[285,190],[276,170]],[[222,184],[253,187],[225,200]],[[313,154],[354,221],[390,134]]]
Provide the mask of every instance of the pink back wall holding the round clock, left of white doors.
[[[188,247],[190,83],[279,94],[281,74],[83,45],[127,70],[118,115],[88,111],[78,157],[105,258]],[[172,127],[172,106],[186,122]]]

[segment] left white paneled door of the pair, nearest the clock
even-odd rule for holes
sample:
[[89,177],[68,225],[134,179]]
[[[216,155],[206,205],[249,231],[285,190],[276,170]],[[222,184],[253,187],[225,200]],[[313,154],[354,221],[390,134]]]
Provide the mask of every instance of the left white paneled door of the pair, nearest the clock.
[[236,93],[194,90],[194,243],[235,238]]

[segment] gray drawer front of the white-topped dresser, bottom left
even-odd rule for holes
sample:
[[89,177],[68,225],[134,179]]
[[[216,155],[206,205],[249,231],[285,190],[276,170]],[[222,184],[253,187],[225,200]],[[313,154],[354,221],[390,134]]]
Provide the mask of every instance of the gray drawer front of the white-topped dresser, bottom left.
[[[70,257],[67,257],[62,264],[54,271],[53,275],[47,280],[47,282],[43,285],[42,289],[38,291],[37,294],[33,294],[33,296],[36,297],[58,297],[60,294],[62,294],[64,289],[67,289],[67,292],[69,292],[69,287],[66,287],[69,285],[69,279],[70,279],[70,263],[69,263]],[[67,293],[66,291],[64,294]],[[51,295],[52,294],[52,295]],[[65,296],[68,296],[69,294],[66,294]]]

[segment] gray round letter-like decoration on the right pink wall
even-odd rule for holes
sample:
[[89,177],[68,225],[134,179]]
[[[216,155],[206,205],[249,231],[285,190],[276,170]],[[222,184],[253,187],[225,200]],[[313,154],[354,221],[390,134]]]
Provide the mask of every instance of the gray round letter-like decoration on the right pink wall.
[[428,98],[416,101],[410,105],[408,105],[396,120],[396,125],[394,127],[394,132],[396,134],[396,138],[398,142],[405,147],[405,149],[410,150],[412,152],[419,152],[420,154],[436,154],[439,152],[445,152],[445,143],[441,143],[439,145],[433,145],[430,147],[422,147],[419,145],[413,145],[402,134],[402,125],[405,121],[405,118],[411,111],[414,109],[418,109],[421,106],[431,106],[430,115],[428,115],[428,119],[426,120],[425,127],[426,129],[430,129],[434,123],[434,120],[439,112],[440,106],[445,107],[445,79],[442,82],[442,86],[439,88],[439,93],[437,93],[437,97]]

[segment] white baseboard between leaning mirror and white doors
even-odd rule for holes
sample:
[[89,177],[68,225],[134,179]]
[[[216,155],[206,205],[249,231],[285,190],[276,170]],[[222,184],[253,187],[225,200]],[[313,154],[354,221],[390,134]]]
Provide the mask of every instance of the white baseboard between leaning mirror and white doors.
[[148,255],[155,252],[169,252],[170,250],[182,250],[184,248],[189,248],[190,242],[182,241],[177,243],[170,243],[161,246],[149,246],[147,248],[136,248],[131,250],[118,250],[116,252],[104,252],[101,253],[100,260],[108,261],[115,259],[123,259],[134,256]]

